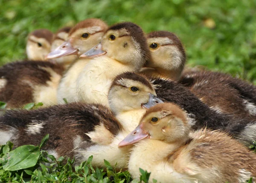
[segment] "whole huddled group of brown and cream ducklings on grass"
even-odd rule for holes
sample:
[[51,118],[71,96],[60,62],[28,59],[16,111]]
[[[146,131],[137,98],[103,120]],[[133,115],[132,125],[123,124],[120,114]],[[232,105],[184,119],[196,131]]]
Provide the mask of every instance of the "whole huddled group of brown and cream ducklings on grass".
[[[92,165],[139,168],[158,182],[240,183],[256,178],[256,86],[186,68],[175,34],[87,19],[57,33],[29,34],[27,61],[0,68],[7,108],[0,145],[33,144],[56,158],[93,155]],[[65,101],[68,103],[66,104]],[[253,179],[254,180],[254,179]]]

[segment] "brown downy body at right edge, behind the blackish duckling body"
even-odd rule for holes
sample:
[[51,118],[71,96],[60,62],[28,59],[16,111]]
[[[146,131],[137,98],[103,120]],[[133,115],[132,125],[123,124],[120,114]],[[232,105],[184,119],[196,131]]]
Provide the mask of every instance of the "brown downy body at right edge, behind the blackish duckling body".
[[219,113],[256,119],[256,86],[219,72],[187,71],[179,81]]

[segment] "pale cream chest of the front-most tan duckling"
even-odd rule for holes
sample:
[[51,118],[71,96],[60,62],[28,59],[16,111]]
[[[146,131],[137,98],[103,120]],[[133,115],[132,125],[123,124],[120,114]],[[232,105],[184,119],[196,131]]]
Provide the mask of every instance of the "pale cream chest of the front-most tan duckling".
[[151,172],[149,182],[156,179],[157,182],[172,182],[172,183],[198,183],[198,180],[189,177],[188,175],[177,172],[173,164],[166,161],[169,154],[169,148],[166,144],[159,141],[148,143],[150,139],[143,140],[136,144],[132,150],[128,169],[134,178],[140,178],[139,168],[144,171]]

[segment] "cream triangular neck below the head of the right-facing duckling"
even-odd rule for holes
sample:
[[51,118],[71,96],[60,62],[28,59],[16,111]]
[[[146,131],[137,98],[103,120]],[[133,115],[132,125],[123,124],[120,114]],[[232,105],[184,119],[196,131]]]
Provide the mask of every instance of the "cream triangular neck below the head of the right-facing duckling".
[[124,111],[117,114],[116,118],[120,122],[124,130],[131,132],[138,126],[145,112],[145,109]]

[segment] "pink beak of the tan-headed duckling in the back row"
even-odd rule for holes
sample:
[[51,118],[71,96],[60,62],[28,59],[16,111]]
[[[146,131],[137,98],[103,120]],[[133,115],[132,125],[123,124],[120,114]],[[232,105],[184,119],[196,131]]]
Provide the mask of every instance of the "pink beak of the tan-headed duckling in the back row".
[[62,43],[58,48],[56,48],[54,51],[50,52],[46,58],[47,59],[55,59],[62,56],[68,56],[68,55],[77,55],[78,49],[73,48],[71,43],[69,41],[66,41]]

